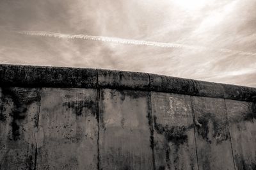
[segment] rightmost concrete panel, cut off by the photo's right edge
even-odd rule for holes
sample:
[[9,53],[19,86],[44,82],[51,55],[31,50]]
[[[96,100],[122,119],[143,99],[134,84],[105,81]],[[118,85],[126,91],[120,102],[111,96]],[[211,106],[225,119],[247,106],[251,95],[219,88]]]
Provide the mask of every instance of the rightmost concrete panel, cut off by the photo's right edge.
[[236,169],[256,169],[255,104],[226,100]]

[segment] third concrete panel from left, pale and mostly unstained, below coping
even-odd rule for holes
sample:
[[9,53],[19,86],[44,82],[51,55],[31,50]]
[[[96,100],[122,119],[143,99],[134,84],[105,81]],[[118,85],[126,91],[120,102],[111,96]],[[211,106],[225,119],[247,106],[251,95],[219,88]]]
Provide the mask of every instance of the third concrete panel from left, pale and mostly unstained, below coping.
[[153,169],[147,94],[100,91],[100,169]]

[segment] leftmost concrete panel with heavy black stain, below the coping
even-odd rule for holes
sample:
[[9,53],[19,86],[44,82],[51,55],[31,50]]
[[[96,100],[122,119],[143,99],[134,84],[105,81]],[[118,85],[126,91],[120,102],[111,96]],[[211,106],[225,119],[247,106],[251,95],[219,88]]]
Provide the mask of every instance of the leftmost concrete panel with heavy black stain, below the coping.
[[0,88],[0,169],[33,169],[40,89]]

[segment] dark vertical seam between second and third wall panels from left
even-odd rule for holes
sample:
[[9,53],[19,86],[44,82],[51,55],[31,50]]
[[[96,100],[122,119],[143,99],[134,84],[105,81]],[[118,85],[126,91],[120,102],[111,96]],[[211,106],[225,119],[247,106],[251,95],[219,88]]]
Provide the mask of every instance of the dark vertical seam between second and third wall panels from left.
[[99,134],[100,134],[100,116],[99,116],[99,100],[100,100],[100,89],[98,88],[98,69],[96,69],[96,89],[97,89],[97,113],[96,113],[96,119],[98,123],[98,135],[97,135],[97,168],[100,169],[100,148],[99,148]]

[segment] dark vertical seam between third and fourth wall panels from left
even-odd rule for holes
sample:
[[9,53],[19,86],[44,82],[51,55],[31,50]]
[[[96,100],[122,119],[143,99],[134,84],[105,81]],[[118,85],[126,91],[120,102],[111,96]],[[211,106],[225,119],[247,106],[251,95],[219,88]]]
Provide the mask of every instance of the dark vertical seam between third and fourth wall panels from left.
[[[149,89],[150,89],[150,75],[148,73],[148,81],[149,81]],[[148,125],[150,129],[150,145],[152,148],[152,160],[153,160],[153,169],[156,169],[156,162],[155,162],[155,153],[154,153],[154,127],[153,127],[153,113],[152,113],[152,102],[151,102],[151,91],[148,91],[147,94],[148,99]]]

